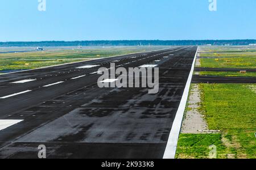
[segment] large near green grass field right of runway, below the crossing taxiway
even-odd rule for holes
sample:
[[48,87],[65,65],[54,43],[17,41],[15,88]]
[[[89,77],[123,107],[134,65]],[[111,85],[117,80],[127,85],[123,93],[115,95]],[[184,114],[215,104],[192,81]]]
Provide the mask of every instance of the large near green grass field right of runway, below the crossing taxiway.
[[256,85],[200,84],[200,111],[210,130],[220,134],[181,134],[176,158],[208,158],[209,145],[217,158],[256,158]]

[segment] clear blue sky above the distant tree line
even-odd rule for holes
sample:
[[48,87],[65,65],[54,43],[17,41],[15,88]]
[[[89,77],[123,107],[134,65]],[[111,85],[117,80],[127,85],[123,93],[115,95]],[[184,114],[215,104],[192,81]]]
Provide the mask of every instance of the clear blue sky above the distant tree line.
[[256,39],[255,0],[0,1],[0,41]]

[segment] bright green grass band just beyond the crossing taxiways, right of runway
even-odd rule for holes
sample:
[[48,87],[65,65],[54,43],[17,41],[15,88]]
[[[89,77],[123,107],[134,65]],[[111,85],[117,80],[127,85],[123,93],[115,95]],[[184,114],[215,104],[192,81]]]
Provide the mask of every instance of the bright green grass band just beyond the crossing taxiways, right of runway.
[[201,67],[256,68],[256,57],[201,58]]

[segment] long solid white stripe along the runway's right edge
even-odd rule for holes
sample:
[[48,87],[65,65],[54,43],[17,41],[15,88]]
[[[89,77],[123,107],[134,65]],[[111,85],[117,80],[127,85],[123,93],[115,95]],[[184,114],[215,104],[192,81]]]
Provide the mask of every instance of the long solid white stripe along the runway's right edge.
[[169,139],[167,142],[166,151],[164,152],[163,159],[175,159],[175,154],[176,154],[176,150],[177,150],[177,142],[179,139],[181,124],[183,121],[183,115],[184,115],[185,107],[186,107],[187,100],[188,100],[189,88],[191,86],[193,71],[195,69],[197,52],[198,52],[198,47],[196,50],[195,58],[192,63],[191,71],[188,76],[187,84],[185,86],[183,96],[181,98],[180,105],[179,105],[179,108],[178,108],[176,116],[175,116],[175,120],[172,124],[172,129],[170,132],[170,136],[169,136]]

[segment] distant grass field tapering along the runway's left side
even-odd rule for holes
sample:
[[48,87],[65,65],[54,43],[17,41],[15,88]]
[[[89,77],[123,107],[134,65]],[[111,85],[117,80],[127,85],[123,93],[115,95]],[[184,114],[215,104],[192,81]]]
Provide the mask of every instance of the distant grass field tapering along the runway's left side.
[[87,61],[93,58],[118,56],[168,47],[169,46],[127,46],[122,48],[55,49],[40,52],[2,53],[0,54],[0,70],[36,69],[44,66]]

